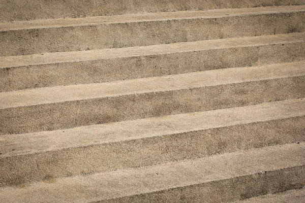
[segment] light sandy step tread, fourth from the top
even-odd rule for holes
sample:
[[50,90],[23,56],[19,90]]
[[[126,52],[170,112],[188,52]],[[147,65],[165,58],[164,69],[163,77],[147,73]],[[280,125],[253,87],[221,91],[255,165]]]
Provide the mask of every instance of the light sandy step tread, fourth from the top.
[[0,146],[2,146],[0,158],[304,115],[305,98],[301,98],[65,130],[7,134],[0,137]]

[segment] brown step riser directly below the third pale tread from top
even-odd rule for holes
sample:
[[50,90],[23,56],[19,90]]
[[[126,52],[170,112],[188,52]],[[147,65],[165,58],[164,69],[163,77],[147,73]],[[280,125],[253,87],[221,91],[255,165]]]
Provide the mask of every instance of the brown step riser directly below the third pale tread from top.
[[0,134],[55,130],[301,98],[305,95],[304,84],[305,76],[297,76],[8,108],[0,110]]

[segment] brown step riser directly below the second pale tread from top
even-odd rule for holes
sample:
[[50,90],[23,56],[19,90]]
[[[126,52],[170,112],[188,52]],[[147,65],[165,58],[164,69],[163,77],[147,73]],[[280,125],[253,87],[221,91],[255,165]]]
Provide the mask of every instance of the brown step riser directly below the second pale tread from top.
[[0,69],[0,91],[100,83],[300,60],[305,60],[305,42],[37,64]]

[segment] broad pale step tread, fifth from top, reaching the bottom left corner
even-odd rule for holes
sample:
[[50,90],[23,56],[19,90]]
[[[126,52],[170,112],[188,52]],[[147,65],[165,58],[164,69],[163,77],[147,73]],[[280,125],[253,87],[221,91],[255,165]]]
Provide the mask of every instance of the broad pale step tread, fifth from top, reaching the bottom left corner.
[[[303,166],[305,143],[0,188],[5,202],[90,202]],[[259,163],[259,164],[258,164]],[[14,195],[12,195],[14,194]]]

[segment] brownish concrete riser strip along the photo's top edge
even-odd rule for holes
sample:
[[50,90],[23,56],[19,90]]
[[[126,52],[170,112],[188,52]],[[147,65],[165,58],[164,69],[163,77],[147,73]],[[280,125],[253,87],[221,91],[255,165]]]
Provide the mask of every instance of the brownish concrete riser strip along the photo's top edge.
[[302,4],[305,4],[304,0],[244,0],[242,2],[234,0],[27,0],[26,2],[23,0],[12,0],[0,2],[0,22],[48,18],[118,15],[142,12],[168,12],[262,6],[289,6]]

